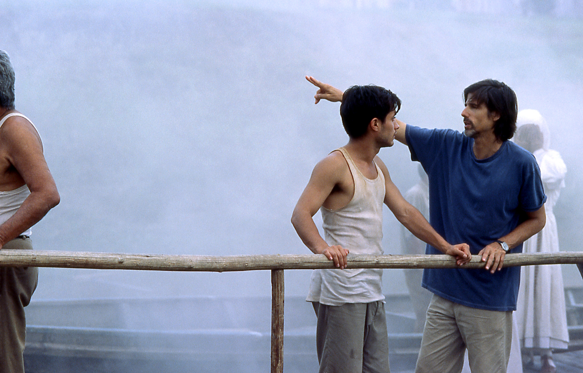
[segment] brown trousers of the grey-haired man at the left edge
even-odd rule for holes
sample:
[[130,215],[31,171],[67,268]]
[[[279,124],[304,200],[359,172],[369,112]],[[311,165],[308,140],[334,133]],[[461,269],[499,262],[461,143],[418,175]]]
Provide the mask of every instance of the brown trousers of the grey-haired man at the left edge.
[[[15,238],[2,249],[32,249],[30,238]],[[24,373],[24,307],[37,286],[38,269],[0,267],[0,373]]]

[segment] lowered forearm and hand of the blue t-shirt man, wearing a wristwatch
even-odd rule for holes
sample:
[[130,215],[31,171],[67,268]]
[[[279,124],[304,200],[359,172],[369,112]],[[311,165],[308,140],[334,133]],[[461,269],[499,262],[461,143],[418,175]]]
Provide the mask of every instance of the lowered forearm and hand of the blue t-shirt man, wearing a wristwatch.
[[[532,235],[539,233],[545,226],[546,213],[544,205],[536,211],[526,213],[526,216],[527,219],[525,221],[504,237],[498,238],[498,240],[506,242],[508,248],[512,249],[528,240]],[[486,262],[486,269],[490,269],[490,273],[494,273],[496,270],[502,269],[506,252],[498,242],[492,242],[480,250],[478,255],[482,255],[482,262]]]

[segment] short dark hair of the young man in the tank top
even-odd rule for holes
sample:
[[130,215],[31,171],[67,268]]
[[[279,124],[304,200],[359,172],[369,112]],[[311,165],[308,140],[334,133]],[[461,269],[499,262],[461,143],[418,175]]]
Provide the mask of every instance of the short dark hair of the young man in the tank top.
[[357,139],[367,131],[374,118],[385,121],[391,111],[398,112],[401,100],[396,94],[383,87],[352,86],[342,96],[340,117],[348,136]]

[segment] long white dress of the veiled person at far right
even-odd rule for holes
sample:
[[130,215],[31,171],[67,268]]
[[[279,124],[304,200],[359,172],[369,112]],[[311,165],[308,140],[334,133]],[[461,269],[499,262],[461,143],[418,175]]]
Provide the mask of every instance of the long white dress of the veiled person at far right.
[[[524,242],[522,252],[557,252],[559,238],[553,207],[564,187],[567,167],[554,150],[539,149],[534,154],[547,195],[546,224],[538,234]],[[522,267],[515,316],[522,347],[567,349],[569,335],[560,265]]]

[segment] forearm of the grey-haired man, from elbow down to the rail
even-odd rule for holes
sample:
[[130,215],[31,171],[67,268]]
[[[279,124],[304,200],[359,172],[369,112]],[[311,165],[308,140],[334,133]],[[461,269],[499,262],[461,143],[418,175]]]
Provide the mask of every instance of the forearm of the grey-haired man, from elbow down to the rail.
[[31,192],[16,213],[0,225],[0,248],[34,226],[59,203],[56,191]]

